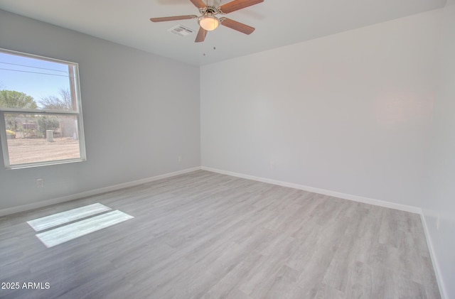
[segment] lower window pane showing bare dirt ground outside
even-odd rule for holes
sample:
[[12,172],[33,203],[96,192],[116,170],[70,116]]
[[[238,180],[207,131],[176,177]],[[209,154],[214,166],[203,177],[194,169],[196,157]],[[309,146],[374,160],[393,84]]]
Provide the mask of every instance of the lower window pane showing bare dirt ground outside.
[[77,116],[4,116],[10,165],[81,158]]

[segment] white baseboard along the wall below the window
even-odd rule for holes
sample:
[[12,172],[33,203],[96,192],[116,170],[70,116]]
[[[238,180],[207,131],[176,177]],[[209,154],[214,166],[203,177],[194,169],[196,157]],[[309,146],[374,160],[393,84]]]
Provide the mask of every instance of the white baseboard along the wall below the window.
[[63,196],[63,197],[53,198],[51,200],[43,200],[41,202],[33,202],[31,204],[28,204],[28,205],[20,205],[18,207],[9,207],[8,209],[0,210],[0,217],[1,216],[5,216],[5,215],[9,215],[9,214],[15,214],[15,213],[19,213],[19,212],[25,212],[25,211],[28,211],[28,210],[37,209],[38,207],[46,207],[48,205],[55,205],[55,204],[58,204],[60,202],[68,202],[70,200],[77,200],[78,198],[92,196],[92,195],[97,195],[97,194],[101,194],[101,193],[104,193],[104,192],[110,192],[110,191],[115,191],[115,190],[119,190],[119,189],[123,189],[123,188],[127,188],[127,187],[133,187],[133,186],[136,186],[136,185],[141,185],[141,184],[144,184],[144,183],[153,182],[154,180],[161,180],[163,178],[171,178],[171,177],[176,176],[176,175],[181,175],[183,173],[191,173],[193,171],[200,170],[200,169],[201,169],[200,166],[198,166],[198,167],[188,168],[188,169],[184,169],[184,170],[178,170],[178,171],[175,171],[173,173],[164,173],[163,175],[156,175],[156,176],[151,177],[151,178],[143,178],[141,180],[134,180],[132,182],[127,182],[127,183],[122,183],[122,184],[102,187],[102,188],[95,189],[95,190],[89,190],[89,191],[80,192],[80,193],[77,193],[77,194],[72,194],[72,195],[67,195],[67,196]]

